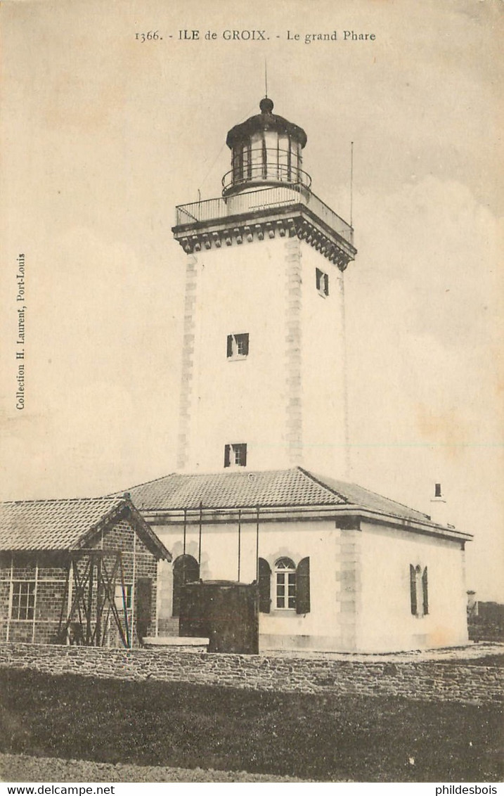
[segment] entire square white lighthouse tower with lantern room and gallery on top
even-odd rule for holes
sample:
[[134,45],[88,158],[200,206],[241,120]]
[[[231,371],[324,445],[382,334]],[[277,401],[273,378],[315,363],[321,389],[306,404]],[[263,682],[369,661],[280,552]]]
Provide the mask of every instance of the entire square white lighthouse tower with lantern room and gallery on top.
[[353,229],[311,191],[307,135],[232,127],[222,196],[179,205],[186,252],[178,468],[346,471],[343,272]]

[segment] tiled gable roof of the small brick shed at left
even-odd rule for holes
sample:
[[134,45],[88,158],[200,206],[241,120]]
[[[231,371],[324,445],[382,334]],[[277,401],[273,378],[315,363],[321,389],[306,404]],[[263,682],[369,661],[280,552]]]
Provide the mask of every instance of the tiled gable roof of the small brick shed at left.
[[150,547],[157,548],[161,555],[163,551],[167,553],[135,507],[117,496],[0,503],[0,550],[77,548],[86,537],[92,536],[93,529],[112,521],[127,505],[138,517],[140,529],[150,540]]

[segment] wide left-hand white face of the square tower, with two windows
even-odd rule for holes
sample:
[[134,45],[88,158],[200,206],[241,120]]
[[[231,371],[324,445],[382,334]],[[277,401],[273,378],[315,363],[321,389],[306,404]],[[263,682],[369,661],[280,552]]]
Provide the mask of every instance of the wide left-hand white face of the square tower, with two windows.
[[[277,239],[189,256],[196,302],[194,340],[185,344],[193,368],[184,470],[221,470],[227,443],[247,443],[252,467],[286,463],[284,248]],[[242,333],[248,357],[228,358],[227,336]]]

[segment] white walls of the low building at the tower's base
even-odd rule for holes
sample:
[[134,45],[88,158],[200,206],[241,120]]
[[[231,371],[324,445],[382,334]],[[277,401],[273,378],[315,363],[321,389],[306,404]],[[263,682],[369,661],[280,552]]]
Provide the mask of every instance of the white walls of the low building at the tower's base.
[[[459,540],[361,523],[340,529],[334,520],[260,524],[259,555],[272,568],[272,608],[260,613],[260,649],[357,652],[417,650],[467,643],[463,552]],[[174,559],[182,555],[180,526],[153,525]],[[238,545],[240,544],[240,576]],[[198,557],[199,528],[188,525],[186,552]],[[275,561],[310,558],[311,608],[306,615],[275,608]],[[428,567],[428,615],[413,616],[410,565]],[[172,611],[172,565],[160,562],[158,612]],[[256,579],[256,525],[203,525],[201,579]]]

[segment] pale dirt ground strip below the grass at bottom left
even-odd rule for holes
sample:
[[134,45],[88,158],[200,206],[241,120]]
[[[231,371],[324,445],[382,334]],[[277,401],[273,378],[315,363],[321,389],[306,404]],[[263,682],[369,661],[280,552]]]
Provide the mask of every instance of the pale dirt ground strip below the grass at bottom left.
[[203,768],[92,763],[57,757],[0,754],[2,782],[305,782],[292,777]]

